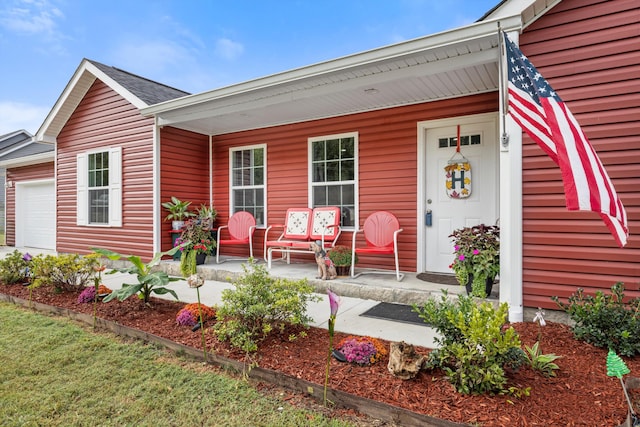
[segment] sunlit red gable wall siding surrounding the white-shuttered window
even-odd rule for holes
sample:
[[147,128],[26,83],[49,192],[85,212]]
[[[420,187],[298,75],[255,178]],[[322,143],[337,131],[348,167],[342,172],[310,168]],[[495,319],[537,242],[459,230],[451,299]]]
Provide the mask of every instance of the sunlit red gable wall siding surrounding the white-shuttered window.
[[[58,135],[57,250],[103,247],[151,257],[153,252],[153,119],[96,80]],[[76,155],[122,147],[122,227],[76,225]]]

